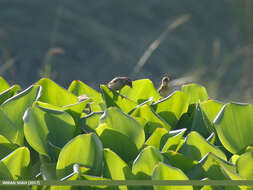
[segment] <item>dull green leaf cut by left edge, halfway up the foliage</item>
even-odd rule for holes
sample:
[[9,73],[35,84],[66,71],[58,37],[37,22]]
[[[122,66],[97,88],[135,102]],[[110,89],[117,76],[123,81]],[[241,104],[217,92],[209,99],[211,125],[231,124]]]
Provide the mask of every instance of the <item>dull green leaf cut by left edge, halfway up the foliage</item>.
[[18,128],[0,108],[0,135],[15,143],[18,137]]

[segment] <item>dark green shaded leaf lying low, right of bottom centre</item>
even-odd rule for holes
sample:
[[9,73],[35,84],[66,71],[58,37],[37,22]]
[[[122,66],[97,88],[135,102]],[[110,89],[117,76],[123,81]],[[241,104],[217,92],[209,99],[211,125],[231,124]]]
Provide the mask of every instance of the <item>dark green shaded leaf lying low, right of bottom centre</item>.
[[191,158],[188,158],[185,155],[176,151],[169,150],[167,152],[162,153],[162,155],[165,158],[165,163],[179,168],[183,172],[189,171],[189,169],[191,169],[198,163],[196,160],[192,160]]

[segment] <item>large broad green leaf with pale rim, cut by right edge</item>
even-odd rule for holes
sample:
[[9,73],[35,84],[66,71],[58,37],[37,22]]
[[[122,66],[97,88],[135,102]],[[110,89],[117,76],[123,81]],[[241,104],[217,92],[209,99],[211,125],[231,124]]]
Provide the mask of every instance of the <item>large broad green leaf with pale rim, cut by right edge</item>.
[[214,120],[222,145],[231,153],[242,153],[253,144],[253,108],[251,104],[228,103]]

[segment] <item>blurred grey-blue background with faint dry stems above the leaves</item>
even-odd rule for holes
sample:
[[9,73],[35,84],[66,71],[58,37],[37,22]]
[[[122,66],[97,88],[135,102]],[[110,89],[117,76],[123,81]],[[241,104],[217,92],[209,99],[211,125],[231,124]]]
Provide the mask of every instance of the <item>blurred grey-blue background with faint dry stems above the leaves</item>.
[[0,0],[0,76],[99,89],[115,76],[158,86],[167,74],[252,103],[252,21],[251,0]]

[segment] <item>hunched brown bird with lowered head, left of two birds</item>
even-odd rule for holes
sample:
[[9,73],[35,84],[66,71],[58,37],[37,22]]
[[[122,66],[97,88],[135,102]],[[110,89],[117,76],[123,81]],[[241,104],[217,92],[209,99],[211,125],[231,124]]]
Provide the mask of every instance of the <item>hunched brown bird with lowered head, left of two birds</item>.
[[128,77],[115,77],[107,84],[108,88],[115,91],[120,91],[126,85],[132,88],[132,80]]

